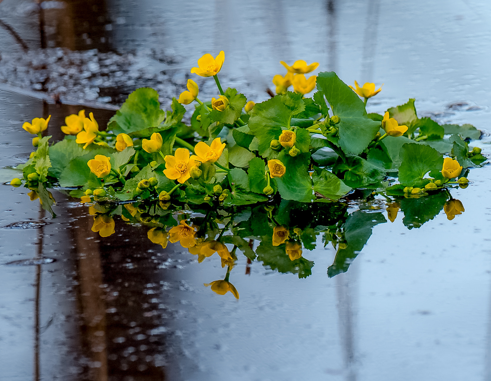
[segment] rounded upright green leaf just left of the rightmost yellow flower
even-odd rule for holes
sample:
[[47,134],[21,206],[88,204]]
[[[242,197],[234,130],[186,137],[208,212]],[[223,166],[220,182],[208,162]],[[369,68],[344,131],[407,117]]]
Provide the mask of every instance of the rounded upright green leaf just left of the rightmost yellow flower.
[[399,167],[399,182],[411,187],[424,186],[427,181],[423,177],[438,176],[443,166],[443,156],[436,149],[425,144],[407,143],[401,148],[401,166]]

